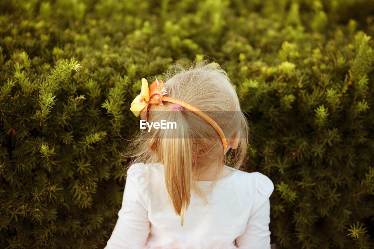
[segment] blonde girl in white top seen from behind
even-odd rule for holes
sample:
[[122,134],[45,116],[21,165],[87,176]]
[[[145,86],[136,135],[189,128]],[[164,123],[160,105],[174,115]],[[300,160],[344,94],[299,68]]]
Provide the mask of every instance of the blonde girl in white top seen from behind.
[[[239,170],[248,123],[226,72],[202,62],[174,66],[131,104],[149,123],[127,171],[110,248],[270,248],[272,181]],[[198,109],[197,109],[198,108]],[[200,111],[201,110],[201,111]],[[231,166],[229,166],[231,165]]]

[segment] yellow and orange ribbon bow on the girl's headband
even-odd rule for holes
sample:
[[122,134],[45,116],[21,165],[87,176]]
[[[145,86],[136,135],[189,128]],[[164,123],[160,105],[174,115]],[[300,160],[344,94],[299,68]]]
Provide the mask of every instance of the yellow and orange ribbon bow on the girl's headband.
[[130,110],[135,116],[147,120],[148,105],[163,105],[162,97],[168,94],[166,88],[163,86],[162,80],[158,81],[157,78],[148,88],[148,81],[145,78],[141,79],[141,92],[131,103]]

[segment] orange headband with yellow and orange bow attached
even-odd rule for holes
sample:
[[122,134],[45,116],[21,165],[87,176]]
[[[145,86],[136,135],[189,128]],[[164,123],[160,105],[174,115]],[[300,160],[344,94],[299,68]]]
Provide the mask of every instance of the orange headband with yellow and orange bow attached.
[[211,117],[206,115],[206,113],[200,111],[193,105],[190,105],[182,100],[164,96],[168,93],[166,91],[166,87],[162,83],[162,80],[158,81],[156,78],[156,80],[153,81],[149,88],[148,81],[146,79],[142,78],[141,83],[141,93],[138,96],[136,96],[135,99],[132,101],[130,108],[130,110],[132,111],[132,113],[135,114],[135,116],[139,116],[140,114],[141,119],[147,120],[148,105],[163,105],[163,101],[181,105],[184,108],[196,113],[197,115],[205,119],[209,124],[211,124],[212,127],[218,132],[218,134],[221,137],[223,150],[226,150],[226,138],[223,134],[221,127]]

